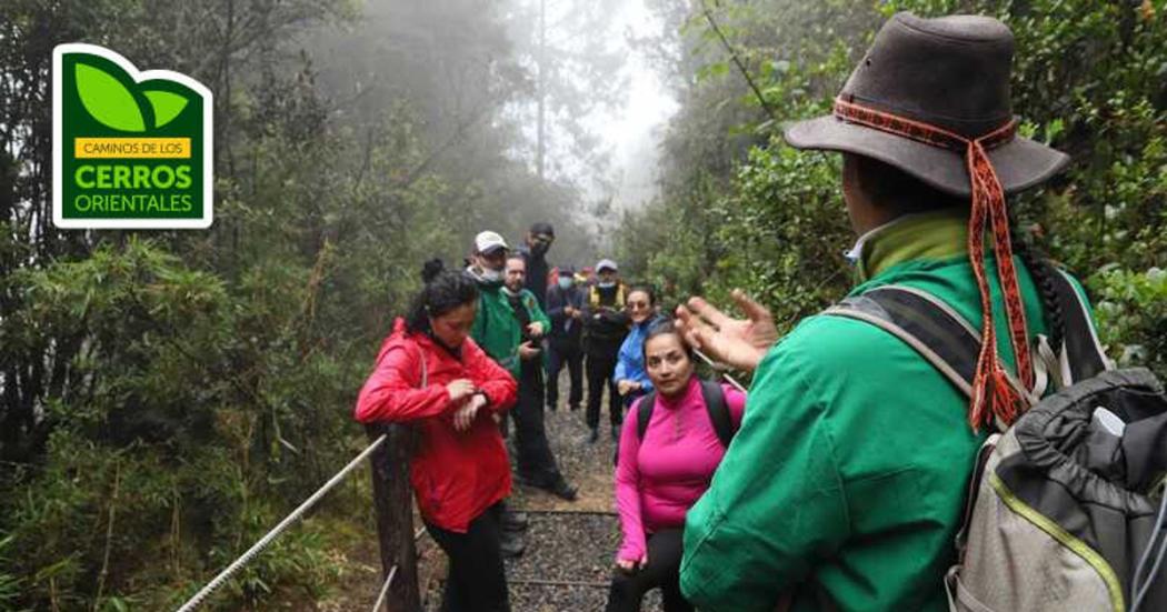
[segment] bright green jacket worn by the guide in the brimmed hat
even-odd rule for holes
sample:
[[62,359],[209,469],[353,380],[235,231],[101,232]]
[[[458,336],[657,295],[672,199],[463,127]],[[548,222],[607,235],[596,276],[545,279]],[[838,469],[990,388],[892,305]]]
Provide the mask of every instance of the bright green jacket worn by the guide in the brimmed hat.
[[[979,328],[966,217],[911,216],[864,245],[851,295],[927,290]],[[986,268],[994,269],[990,262]],[[1018,262],[1030,336],[1041,302]],[[1004,302],[990,274],[999,351],[1013,371]],[[946,611],[971,466],[967,399],[900,339],[871,324],[803,319],[759,365],[741,429],[685,522],[680,585],[703,611]]]

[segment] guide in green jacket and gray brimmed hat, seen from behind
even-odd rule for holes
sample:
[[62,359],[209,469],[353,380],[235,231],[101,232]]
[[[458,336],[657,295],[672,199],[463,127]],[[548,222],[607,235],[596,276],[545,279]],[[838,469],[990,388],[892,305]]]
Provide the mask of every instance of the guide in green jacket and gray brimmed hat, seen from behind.
[[864,321],[811,316],[778,339],[741,291],[748,319],[699,297],[678,309],[691,343],[754,372],[741,429],[686,516],[680,586],[697,609],[948,610],[943,578],[974,456],[994,417],[1007,423],[1020,407],[1002,381],[1032,389],[1030,345],[1062,326],[1055,270],[1011,240],[1006,220],[1006,195],[1068,162],[1015,133],[1012,51],[990,17],[897,14],[834,112],[785,133],[795,147],[844,154],[860,237],[850,295],[921,289],[979,330],[973,401]]

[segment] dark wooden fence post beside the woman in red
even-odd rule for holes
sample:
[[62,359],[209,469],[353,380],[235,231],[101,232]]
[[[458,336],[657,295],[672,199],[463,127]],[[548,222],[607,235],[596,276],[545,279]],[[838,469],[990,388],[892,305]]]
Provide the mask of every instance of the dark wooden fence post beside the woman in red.
[[[418,556],[413,542],[413,491],[410,487],[410,452],[413,431],[404,425],[366,425],[369,439],[385,434],[389,439],[369,460],[372,463],[372,500],[377,511],[377,537],[380,542],[380,579],[396,565],[385,609],[390,612],[420,612]],[[376,611],[380,612],[380,611]]]

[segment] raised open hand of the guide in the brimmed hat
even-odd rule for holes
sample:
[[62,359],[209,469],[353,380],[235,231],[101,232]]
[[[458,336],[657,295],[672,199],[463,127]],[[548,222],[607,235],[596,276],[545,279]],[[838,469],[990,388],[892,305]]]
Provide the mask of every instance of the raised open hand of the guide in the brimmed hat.
[[745,371],[753,371],[778,340],[770,311],[750,300],[741,289],[733,290],[733,300],[747,319],[731,318],[700,297],[677,307],[677,328],[689,343],[719,361]]

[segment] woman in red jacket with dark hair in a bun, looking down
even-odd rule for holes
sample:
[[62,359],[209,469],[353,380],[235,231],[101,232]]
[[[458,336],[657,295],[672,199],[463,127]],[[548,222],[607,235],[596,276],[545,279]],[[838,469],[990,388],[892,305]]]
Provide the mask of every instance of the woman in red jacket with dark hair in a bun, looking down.
[[515,403],[511,375],[468,337],[478,289],[426,263],[426,286],[398,318],[357,400],[362,423],[412,423],[420,444],[410,481],[429,535],[449,556],[442,610],[508,611],[498,501],[510,494],[506,450],[492,418]]

